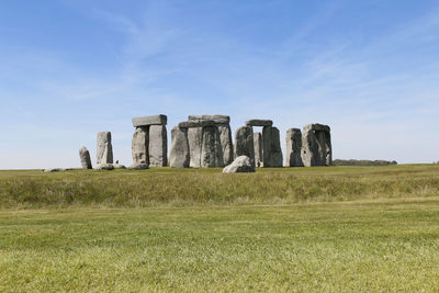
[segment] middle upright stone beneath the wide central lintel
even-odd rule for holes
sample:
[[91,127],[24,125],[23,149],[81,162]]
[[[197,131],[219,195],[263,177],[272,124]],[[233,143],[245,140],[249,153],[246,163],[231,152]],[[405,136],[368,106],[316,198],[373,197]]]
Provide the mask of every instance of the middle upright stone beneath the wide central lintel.
[[216,126],[203,127],[200,166],[204,168],[224,167],[219,132]]

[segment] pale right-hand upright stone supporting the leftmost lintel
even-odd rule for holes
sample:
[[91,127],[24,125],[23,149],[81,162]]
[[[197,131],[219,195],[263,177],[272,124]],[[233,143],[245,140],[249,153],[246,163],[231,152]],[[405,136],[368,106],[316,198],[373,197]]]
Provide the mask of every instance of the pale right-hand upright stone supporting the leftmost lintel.
[[149,166],[168,166],[168,134],[165,125],[149,126]]

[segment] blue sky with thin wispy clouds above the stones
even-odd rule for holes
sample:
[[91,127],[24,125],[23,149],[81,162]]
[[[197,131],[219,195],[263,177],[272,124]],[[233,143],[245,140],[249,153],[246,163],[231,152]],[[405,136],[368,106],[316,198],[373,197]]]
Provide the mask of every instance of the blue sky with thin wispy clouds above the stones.
[[15,0],[0,5],[0,169],[79,167],[133,116],[331,127],[338,159],[439,161],[437,0]]

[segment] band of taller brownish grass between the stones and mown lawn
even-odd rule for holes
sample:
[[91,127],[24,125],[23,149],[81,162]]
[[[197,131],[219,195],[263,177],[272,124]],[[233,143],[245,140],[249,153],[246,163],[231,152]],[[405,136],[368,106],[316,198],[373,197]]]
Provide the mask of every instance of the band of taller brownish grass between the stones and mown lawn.
[[259,169],[0,171],[0,207],[273,204],[439,196],[438,165]]

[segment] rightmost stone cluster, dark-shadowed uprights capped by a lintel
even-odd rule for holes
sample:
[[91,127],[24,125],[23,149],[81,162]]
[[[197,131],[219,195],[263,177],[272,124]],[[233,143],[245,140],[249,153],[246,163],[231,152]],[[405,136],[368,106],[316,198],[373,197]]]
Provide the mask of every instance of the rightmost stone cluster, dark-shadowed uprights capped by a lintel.
[[302,161],[305,167],[331,166],[330,128],[323,124],[308,124],[302,133]]

